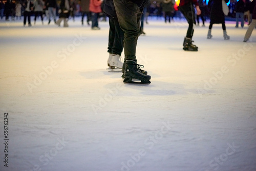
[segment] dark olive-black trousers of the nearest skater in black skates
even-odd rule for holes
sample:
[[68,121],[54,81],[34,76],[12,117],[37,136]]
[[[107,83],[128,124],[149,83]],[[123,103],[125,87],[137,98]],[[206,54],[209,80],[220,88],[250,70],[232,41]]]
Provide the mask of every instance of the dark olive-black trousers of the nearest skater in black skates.
[[114,0],[114,5],[121,29],[124,31],[124,61],[136,59],[137,41],[142,29],[140,27],[141,11],[130,0]]

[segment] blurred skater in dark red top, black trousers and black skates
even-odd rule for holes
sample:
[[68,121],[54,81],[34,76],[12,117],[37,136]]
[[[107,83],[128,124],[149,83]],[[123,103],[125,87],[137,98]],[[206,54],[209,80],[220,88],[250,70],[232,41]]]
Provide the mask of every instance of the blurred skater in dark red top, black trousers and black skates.
[[188,29],[186,37],[183,42],[183,50],[185,51],[198,51],[198,47],[192,44],[192,37],[194,34],[194,25],[196,25],[195,8],[197,9],[197,15],[201,14],[199,4],[197,0],[181,0],[179,10],[184,15],[188,23]]

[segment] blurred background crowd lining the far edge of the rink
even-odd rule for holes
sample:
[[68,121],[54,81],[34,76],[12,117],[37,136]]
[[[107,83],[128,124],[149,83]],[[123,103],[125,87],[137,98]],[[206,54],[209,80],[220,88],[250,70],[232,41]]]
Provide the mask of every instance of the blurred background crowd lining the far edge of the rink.
[[[177,1],[177,0],[176,0]],[[183,17],[179,10],[179,4],[175,0],[158,0],[148,1],[144,6],[145,19],[147,22],[148,16],[157,16],[157,18],[164,17],[165,23],[171,23],[174,17]],[[61,3],[62,2],[62,3]],[[92,2],[92,3],[90,3]],[[66,4],[69,6],[68,18],[75,19],[75,16],[81,16],[81,24],[83,25],[83,18],[87,16],[87,24],[89,21],[93,21],[94,29],[97,30],[97,22],[94,18],[103,17],[103,6],[106,0],[68,0]],[[198,0],[200,15],[196,15],[197,26],[201,19],[202,27],[205,27],[204,22],[210,19],[210,11],[213,4],[213,0],[209,0],[206,4],[206,0]],[[30,9],[26,7],[28,3],[32,6]],[[43,17],[48,18],[48,24],[52,20],[56,23],[56,16],[61,13],[61,4],[65,4],[64,0],[0,0],[0,15],[1,19],[6,21],[21,19],[25,13],[30,12],[34,16],[34,21],[39,16],[41,21]],[[252,11],[254,8],[255,0],[230,0],[228,17],[236,18],[236,27],[244,27],[245,21],[250,25],[252,21]],[[66,5],[67,7],[67,5]],[[26,10],[27,8],[27,10]],[[90,9],[89,9],[90,8]],[[60,10],[59,10],[60,9]],[[26,12],[27,11],[27,12]],[[94,17],[95,16],[95,17]],[[42,22],[43,24],[43,22]],[[96,24],[96,25],[95,25]]]

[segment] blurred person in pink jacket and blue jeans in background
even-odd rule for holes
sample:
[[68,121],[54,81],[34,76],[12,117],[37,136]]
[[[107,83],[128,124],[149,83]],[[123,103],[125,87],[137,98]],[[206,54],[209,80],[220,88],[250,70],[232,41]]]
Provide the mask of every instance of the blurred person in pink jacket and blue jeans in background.
[[100,28],[98,27],[98,16],[99,13],[101,13],[101,3],[102,0],[90,0],[90,6],[89,10],[92,13],[92,30],[99,30]]

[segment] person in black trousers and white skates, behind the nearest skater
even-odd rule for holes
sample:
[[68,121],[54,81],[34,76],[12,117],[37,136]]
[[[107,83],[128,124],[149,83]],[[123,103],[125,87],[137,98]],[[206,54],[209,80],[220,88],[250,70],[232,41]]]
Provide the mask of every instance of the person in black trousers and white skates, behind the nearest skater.
[[120,60],[123,51],[124,33],[119,26],[113,0],[105,0],[104,13],[109,17],[109,45],[108,45],[108,66],[111,69],[115,67],[122,69],[123,62]]

